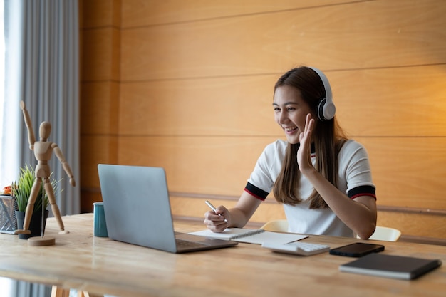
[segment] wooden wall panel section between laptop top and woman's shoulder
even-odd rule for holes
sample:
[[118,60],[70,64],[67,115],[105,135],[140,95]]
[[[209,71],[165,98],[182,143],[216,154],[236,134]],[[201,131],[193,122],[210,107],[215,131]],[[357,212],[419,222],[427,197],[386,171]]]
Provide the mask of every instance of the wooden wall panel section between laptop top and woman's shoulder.
[[260,137],[119,137],[118,161],[165,167],[170,191],[242,193],[263,147]]

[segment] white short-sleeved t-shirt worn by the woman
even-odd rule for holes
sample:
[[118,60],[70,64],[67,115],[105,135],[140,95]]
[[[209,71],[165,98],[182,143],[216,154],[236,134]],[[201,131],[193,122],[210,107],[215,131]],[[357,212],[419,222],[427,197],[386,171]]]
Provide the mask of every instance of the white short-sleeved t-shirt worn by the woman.
[[[264,200],[271,192],[281,170],[288,142],[276,140],[267,145],[257,160],[248,179],[247,192]],[[316,157],[311,155],[313,165]],[[330,208],[310,209],[306,201],[313,192],[313,185],[300,174],[299,195],[304,200],[296,205],[284,204],[289,231],[303,234],[323,234],[353,237],[353,231],[334,214]],[[348,140],[338,154],[338,189],[354,199],[361,195],[375,197],[368,155],[359,142]]]

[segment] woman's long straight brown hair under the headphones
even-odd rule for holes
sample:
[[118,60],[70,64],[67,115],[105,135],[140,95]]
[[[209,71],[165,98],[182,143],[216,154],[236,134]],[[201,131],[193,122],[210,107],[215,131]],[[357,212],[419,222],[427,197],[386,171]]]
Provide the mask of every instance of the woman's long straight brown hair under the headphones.
[[[282,85],[289,85],[301,92],[302,99],[316,113],[318,101],[325,98],[325,88],[319,75],[311,68],[291,69],[277,80],[274,91]],[[338,153],[346,142],[336,117],[331,120],[318,120],[313,131],[313,144],[316,149],[316,170],[336,187],[338,185]],[[299,197],[299,178],[301,172],[297,163],[298,144],[288,144],[281,172],[274,183],[274,197],[279,203],[296,205],[302,202]],[[315,190],[308,197],[311,209],[328,207],[321,195]]]

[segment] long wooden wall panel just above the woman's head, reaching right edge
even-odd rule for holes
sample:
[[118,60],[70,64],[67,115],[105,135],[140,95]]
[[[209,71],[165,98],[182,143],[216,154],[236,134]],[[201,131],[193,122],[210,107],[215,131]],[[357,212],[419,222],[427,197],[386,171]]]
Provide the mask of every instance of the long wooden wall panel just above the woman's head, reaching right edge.
[[127,29],[122,79],[282,73],[296,63],[324,70],[445,63],[446,6],[435,3],[366,1]]

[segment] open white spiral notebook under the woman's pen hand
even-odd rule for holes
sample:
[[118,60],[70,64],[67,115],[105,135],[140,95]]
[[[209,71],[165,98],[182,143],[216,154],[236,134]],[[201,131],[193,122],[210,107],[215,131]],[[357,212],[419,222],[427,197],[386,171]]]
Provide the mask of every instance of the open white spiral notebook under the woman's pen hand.
[[225,239],[248,244],[288,244],[293,241],[304,239],[308,236],[294,233],[279,233],[265,231],[264,229],[244,229],[244,228],[227,228],[221,233],[215,233],[209,229],[191,232],[192,235],[211,237],[216,239]]

